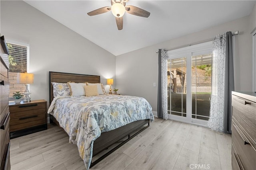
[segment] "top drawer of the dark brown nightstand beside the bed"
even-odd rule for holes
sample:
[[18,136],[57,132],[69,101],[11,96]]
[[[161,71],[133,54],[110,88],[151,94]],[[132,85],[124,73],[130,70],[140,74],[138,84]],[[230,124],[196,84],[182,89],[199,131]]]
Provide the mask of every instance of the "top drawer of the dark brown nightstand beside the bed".
[[10,113],[20,112],[20,111],[30,111],[35,109],[46,109],[45,103],[28,103],[28,104],[16,104],[10,107]]

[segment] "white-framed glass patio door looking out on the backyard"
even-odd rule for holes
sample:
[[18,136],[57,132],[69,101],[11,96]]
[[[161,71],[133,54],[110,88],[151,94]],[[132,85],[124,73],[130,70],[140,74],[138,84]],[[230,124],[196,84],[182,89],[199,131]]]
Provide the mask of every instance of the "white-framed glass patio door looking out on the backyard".
[[168,51],[168,118],[207,125],[212,92],[212,43]]

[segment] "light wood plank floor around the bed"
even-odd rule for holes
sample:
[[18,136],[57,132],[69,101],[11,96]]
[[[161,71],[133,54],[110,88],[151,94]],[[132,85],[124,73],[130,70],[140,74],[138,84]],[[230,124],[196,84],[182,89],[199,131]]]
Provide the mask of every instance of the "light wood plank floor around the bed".
[[[11,169],[82,170],[76,145],[56,125],[11,139]],[[155,118],[150,127],[91,169],[231,170],[231,135]]]

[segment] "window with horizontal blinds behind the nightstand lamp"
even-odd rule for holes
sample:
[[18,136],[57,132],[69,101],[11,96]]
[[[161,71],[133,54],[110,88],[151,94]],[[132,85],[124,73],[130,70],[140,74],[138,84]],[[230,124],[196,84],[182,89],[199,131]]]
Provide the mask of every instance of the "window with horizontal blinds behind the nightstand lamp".
[[9,50],[9,82],[10,82],[10,94],[9,101],[14,100],[12,97],[14,92],[24,92],[24,84],[17,84],[17,74],[18,72],[28,71],[28,46],[18,45],[14,43],[7,43]]

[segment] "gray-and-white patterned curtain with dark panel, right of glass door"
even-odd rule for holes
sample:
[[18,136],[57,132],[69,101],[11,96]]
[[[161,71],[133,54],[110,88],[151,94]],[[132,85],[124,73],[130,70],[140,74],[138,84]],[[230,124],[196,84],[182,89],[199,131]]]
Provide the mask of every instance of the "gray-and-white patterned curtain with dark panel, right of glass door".
[[[228,39],[228,41],[227,41]],[[213,40],[212,96],[208,127],[231,133],[231,91],[234,91],[232,33]]]

